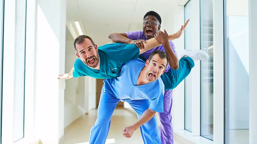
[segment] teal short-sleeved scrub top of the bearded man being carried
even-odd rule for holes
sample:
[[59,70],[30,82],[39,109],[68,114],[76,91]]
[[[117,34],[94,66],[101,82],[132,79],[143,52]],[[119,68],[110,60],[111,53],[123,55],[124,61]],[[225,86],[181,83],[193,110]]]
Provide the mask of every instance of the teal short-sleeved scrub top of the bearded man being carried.
[[98,47],[100,70],[92,69],[79,58],[75,61],[73,77],[90,76],[94,78],[114,78],[120,75],[121,66],[139,57],[136,45],[112,43]]

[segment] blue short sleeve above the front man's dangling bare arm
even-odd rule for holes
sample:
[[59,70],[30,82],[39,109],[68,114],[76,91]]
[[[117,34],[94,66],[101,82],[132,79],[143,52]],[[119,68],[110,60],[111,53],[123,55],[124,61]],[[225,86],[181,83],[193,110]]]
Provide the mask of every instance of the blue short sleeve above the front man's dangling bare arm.
[[153,111],[163,113],[163,93],[157,98],[150,100],[149,108]]

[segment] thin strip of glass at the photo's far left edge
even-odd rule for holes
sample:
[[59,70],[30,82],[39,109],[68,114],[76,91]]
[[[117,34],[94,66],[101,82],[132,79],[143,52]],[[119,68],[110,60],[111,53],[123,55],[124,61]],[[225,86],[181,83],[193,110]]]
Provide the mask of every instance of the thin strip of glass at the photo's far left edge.
[[0,0],[0,144],[2,137],[2,70],[3,70],[3,19],[4,19],[4,1]]

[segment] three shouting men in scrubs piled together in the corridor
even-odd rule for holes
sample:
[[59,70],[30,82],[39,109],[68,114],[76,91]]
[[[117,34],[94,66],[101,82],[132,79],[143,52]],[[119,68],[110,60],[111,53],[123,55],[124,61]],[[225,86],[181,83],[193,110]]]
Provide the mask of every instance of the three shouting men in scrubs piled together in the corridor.
[[149,11],[143,20],[143,31],[110,34],[114,43],[100,47],[89,36],[78,36],[74,41],[78,59],[69,73],[59,75],[58,79],[105,79],[90,144],[105,143],[119,101],[128,102],[138,117],[136,123],[123,129],[124,137],[132,137],[140,128],[145,144],[173,143],[172,89],[189,75],[195,61],[209,56],[202,50],[186,50],[178,60],[172,40],[181,37],[189,20],[171,35],[165,29],[160,31],[162,20],[158,13]]

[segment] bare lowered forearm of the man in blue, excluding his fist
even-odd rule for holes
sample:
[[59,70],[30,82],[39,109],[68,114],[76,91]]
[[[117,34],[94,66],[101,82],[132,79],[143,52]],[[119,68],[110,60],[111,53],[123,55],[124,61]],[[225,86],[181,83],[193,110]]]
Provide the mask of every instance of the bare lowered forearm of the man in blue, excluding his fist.
[[139,120],[133,124],[132,126],[135,129],[138,129],[140,126],[142,126],[143,124],[145,124],[146,122],[148,122],[151,118],[153,118],[153,116],[155,115],[156,112],[149,110],[149,108],[147,110],[145,110],[145,112],[142,114],[142,116],[139,118]]

